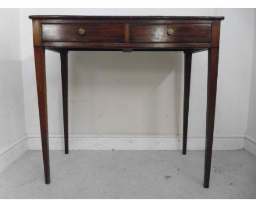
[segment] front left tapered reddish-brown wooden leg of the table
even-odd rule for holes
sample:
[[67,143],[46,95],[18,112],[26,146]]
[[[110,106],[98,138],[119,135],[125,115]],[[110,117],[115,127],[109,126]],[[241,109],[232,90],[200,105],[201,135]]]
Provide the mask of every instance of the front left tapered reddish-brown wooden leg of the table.
[[46,98],[45,54],[43,47],[34,47],[34,62],[36,65],[37,97],[39,106],[40,130],[44,160],[45,183],[50,183],[50,162],[48,144],[48,117]]

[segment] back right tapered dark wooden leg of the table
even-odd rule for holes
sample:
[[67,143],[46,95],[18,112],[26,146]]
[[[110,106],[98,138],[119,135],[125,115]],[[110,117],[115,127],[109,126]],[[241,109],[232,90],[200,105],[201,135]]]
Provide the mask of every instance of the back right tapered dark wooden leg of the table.
[[184,103],[183,103],[183,147],[182,147],[182,154],[183,155],[185,155],[187,153],[191,62],[192,62],[192,53],[191,52],[185,52]]

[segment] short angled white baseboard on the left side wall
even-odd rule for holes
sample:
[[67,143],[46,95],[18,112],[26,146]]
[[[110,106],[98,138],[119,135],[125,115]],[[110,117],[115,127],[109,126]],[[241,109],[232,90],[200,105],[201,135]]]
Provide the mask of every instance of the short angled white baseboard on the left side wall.
[[7,168],[28,150],[27,134],[0,152],[0,172]]

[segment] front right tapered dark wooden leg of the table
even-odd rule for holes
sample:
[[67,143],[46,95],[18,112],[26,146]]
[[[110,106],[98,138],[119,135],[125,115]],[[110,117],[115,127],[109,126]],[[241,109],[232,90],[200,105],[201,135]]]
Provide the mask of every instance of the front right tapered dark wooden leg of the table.
[[219,48],[208,49],[208,81],[207,81],[207,110],[206,110],[206,143],[205,143],[205,178],[203,187],[209,187],[214,117],[216,106],[216,91],[218,77]]

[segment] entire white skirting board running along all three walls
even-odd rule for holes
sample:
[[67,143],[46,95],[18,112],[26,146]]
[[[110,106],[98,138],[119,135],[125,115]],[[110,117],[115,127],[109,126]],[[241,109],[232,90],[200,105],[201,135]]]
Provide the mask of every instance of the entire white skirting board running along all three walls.
[[[50,135],[50,150],[63,150],[62,135]],[[0,172],[27,150],[41,150],[40,135],[24,135],[0,152]],[[70,150],[181,150],[182,138],[176,136],[127,136],[127,135],[70,135]],[[204,150],[204,136],[190,136],[188,150]],[[245,149],[256,155],[256,140],[249,136],[215,136],[213,150]]]

